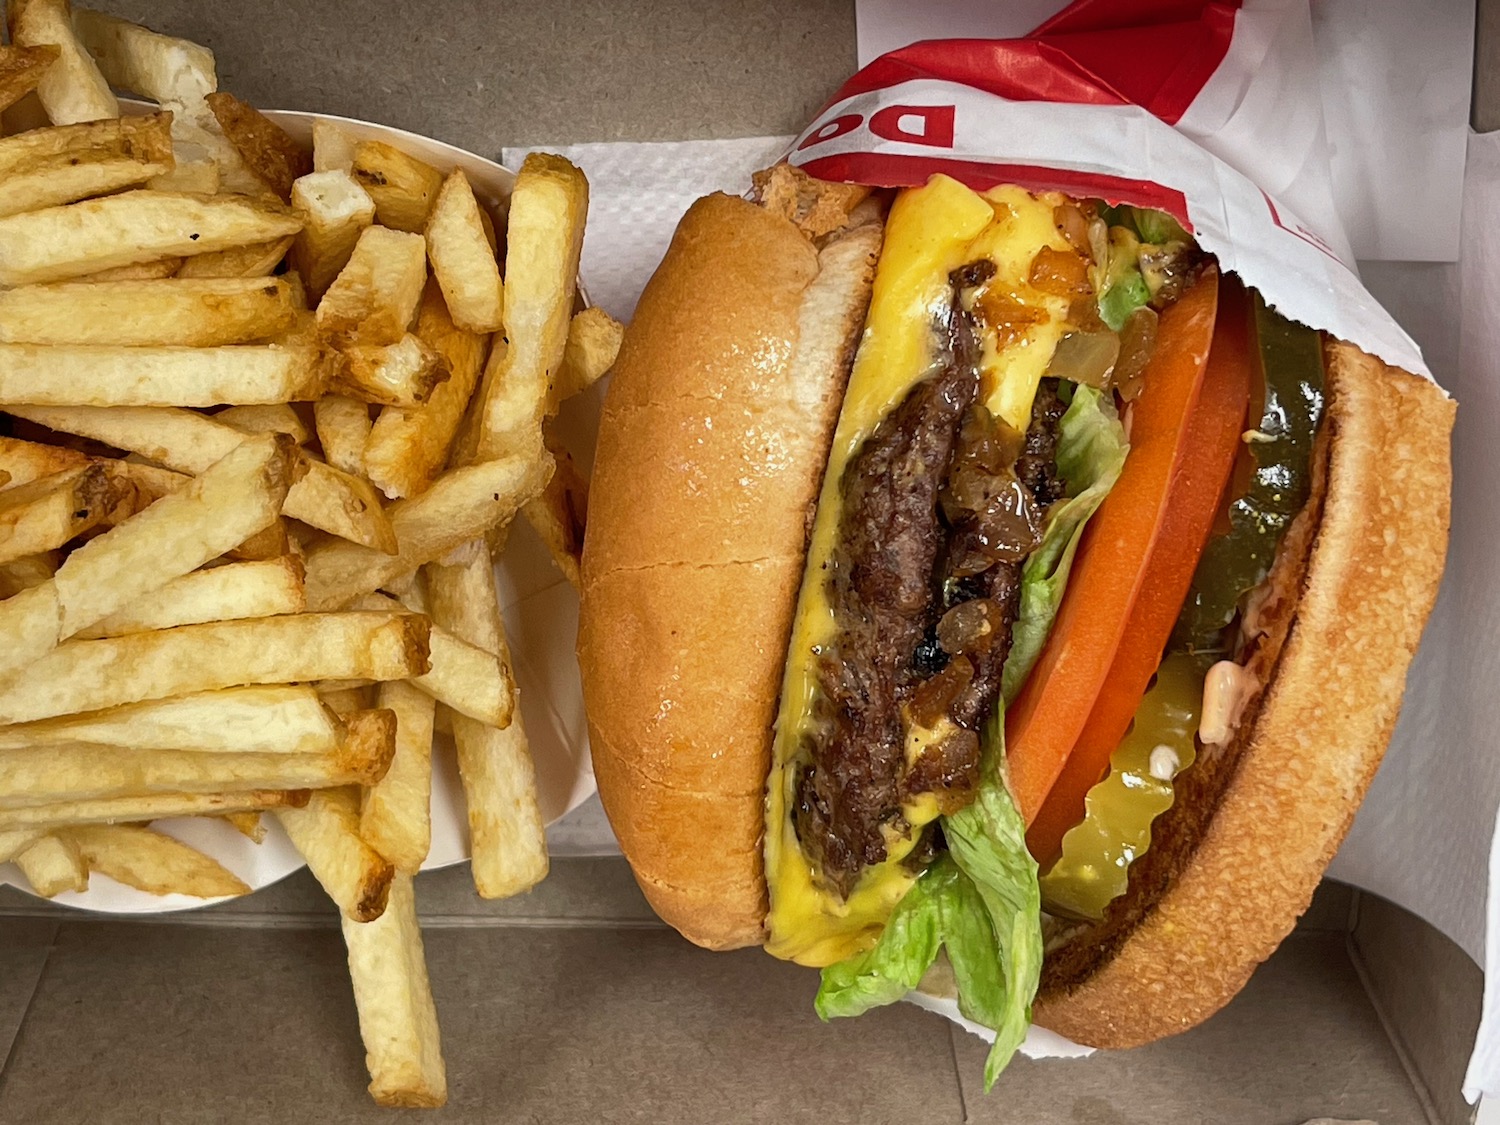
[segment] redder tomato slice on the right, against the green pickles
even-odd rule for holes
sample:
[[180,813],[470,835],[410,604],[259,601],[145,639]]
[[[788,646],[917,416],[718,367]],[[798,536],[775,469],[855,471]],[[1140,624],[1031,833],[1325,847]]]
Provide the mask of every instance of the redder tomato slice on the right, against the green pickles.
[[1060,850],[1064,832],[1083,819],[1084,796],[1108,770],[1161,663],[1233,472],[1245,432],[1251,370],[1250,302],[1244,286],[1226,278],[1203,388],[1188,418],[1130,622],[1078,742],[1026,832],[1038,858]]

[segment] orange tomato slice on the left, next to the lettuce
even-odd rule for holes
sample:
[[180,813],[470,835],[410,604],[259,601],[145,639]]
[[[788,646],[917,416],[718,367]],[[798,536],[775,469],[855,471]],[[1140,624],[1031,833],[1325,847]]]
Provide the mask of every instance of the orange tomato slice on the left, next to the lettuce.
[[[1150,620],[1164,616],[1167,632],[1162,633],[1162,644],[1155,646],[1131,712],[1161,658],[1161,648],[1186,596],[1186,585],[1176,602],[1172,602],[1170,591],[1158,596],[1148,590],[1154,560],[1158,555],[1191,556],[1186,564],[1191,580],[1192,564],[1212,528],[1214,510],[1228,466],[1233,465],[1233,450],[1224,458],[1215,454],[1224,460],[1224,476],[1220,477],[1206,471],[1191,435],[1200,417],[1198,404],[1203,399],[1209,351],[1215,342],[1218,291],[1218,273],[1208,272],[1176,304],[1162,312],[1156,351],[1146,368],[1140,398],[1131,406],[1131,450],[1125,468],[1078,543],[1068,591],[1052,634],[1005,716],[1011,790],[1028,825],[1036,820],[1074,747],[1089,729],[1095,700],[1110,682],[1116,656],[1136,621],[1137,604]],[[1242,345],[1242,350],[1244,346],[1248,345]],[[1210,396],[1210,400],[1215,398]],[[1236,424],[1244,422],[1244,416],[1242,400],[1234,416]],[[1236,430],[1234,440],[1238,438]],[[1184,490],[1212,490],[1209,519],[1196,546],[1184,542],[1185,530],[1172,514]],[[1168,603],[1170,612],[1166,609]],[[1134,654],[1137,648],[1140,645],[1131,645],[1130,651]],[[1110,698],[1114,699],[1113,692]],[[1108,752],[1113,748],[1112,742]],[[1106,766],[1108,752],[1104,754]],[[1098,780],[1098,774],[1095,771],[1089,784]],[[1082,801],[1074,820],[1080,818]],[[1074,820],[1064,825],[1064,831]],[[1058,834],[1059,842],[1060,838]],[[1038,854],[1036,848],[1032,850]],[[1050,858],[1052,850],[1041,855]]]

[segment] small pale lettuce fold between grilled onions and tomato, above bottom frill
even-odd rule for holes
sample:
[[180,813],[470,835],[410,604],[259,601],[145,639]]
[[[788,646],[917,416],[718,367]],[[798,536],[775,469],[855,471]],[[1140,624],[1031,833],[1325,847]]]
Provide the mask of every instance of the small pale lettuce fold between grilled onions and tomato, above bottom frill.
[[1094,387],[1076,387],[1058,424],[1058,471],[1068,498],[1047,513],[1041,544],[1022,568],[1022,604],[1011,628],[1011,654],[1000,676],[1006,706],[1016,699],[1041,656],[1068,585],[1078,538],[1125,466],[1125,428],[1113,399]]

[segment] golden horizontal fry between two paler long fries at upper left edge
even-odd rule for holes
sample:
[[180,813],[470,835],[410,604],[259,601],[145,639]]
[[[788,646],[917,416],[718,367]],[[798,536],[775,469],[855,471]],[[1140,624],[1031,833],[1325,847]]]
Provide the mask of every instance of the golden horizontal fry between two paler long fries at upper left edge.
[[98,346],[250,344],[297,324],[291,282],[62,282],[0,292],[0,342]]

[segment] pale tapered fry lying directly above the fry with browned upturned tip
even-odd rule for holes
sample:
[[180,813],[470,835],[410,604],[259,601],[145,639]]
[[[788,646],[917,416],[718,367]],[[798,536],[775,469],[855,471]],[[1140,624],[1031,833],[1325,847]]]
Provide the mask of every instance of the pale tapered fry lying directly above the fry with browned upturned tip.
[[330,754],[342,738],[342,724],[318,693],[302,684],[230,687],[0,728],[4,750],[93,742],[134,750]]

